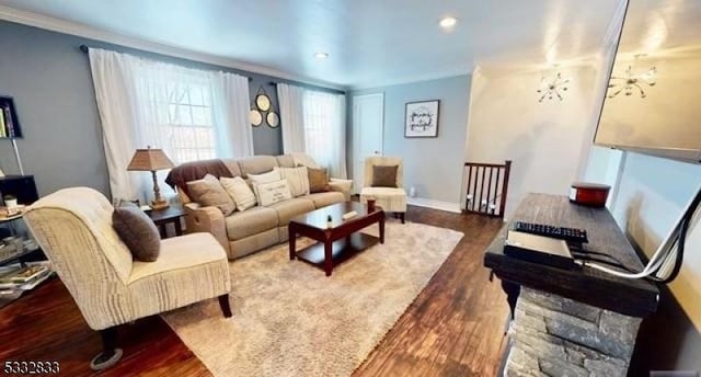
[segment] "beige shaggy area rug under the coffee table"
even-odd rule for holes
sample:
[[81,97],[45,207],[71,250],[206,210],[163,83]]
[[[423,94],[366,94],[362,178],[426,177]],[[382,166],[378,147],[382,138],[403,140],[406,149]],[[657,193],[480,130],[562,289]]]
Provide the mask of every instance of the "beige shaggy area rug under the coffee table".
[[[377,227],[368,233],[377,235]],[[334,269],[290,261],[287,243],[231,262],[231,308],[163,315],[215,376],[349,376],[455,249],[461,232],[388,221],[377,244]],[[310,244],[301,239],[299,248]]]

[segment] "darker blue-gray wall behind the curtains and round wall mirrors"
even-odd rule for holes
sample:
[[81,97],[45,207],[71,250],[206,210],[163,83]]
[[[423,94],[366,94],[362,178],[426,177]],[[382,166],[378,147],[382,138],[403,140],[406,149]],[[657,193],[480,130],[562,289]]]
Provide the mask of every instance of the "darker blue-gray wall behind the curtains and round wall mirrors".
[[[271,82],[291,82],[0,21],[0,95],[14,98],[24,134],[18,140],[24,172],[35,175],[39,195],[76,185],[110,195],[90,65],[79,49],[83,44],[248,76],[251,96],[263,85],[277,111],[277,92]],[[253,145],[256,155],[281,153],[280,127],[254,127]],[[0,140],[0,168],[7,174],[19,173],[9,140]]]

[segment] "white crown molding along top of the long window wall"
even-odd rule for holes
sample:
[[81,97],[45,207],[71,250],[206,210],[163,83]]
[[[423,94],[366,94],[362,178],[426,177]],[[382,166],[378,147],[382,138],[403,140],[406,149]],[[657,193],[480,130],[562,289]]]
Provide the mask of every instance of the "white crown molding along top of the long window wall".
[[227,58],[219,55],[186,49],[186,48],[182,48],[171,44],[151,42],[140,37],[128,36],[128,35],[119,34],[116,32],[111,32],[111,31],[89,26],[78,22],[72,22],[72,21],[54,18],[45,14],[39,14],[35,12],[19,10],[19,9],[14,9],[14,8],[1,5],[1,4],[0,4],[0,20],[20,23],[23,25],[34,26],[38,28],[44,28],[51,32],[70,34],[70,35],[89,38],[89,39],[96,39],[96,41],[106,42],[106,43],[120,45],[125,47],[147,50],[150,53],[168,55],[176,58],[207,62],[211,65],[239,69],[239,70],[252,72],[252,73],[272,76],[275,78],[297,81],[297,82],[301,82],[310,85],[324,87],[324,88],[336,89],[341,91],[347,90],[346,87],[338,85],[332,82],[326,82],[326,81],[317,80],[317,79],[312,79],[303,76],[298,76],[298,75],[280,71],[274,68],[268,68],[268,67],[254,65],[254,64],[250,64],[250,62],[245,62],[237,59],[231,59],[231,58]]

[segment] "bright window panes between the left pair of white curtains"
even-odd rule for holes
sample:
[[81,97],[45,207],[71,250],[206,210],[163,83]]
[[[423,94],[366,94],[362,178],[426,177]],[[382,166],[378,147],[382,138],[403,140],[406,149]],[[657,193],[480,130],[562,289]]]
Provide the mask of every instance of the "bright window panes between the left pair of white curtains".
[[216,137],[208,82],[180,76],[177,81],[145,78],[152,110],[162,136],[170,140],[175,163],[214,159]]

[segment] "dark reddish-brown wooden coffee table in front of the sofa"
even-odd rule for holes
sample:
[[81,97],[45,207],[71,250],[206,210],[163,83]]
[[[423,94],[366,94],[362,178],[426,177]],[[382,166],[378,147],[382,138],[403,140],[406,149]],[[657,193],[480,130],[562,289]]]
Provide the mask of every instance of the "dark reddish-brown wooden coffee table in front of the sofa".
[[[343,214],[352,210],[358,215],[343,220]],[[331,228],[326,225],[329,215],[332,217]],[[359,231],[372,224],[379,224],[380,237]],[[288,231],[289,259],[299,258],[301,261],[322,267],[326,276],[331,276],[334,265],[378,242],[384,243],[384,212],[376,207],[374,212],[368,213],[365,204],[355,202],[333,204],[295,217],[289,222]],[[297,235],[309,237],[319,243],[296,251]]]

